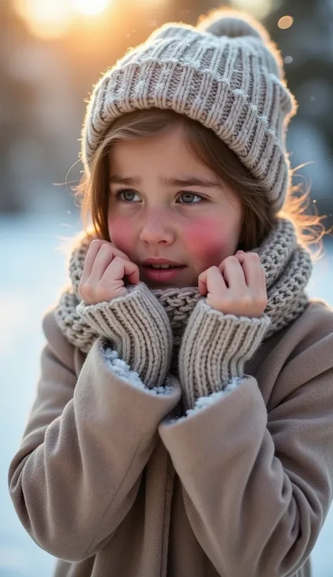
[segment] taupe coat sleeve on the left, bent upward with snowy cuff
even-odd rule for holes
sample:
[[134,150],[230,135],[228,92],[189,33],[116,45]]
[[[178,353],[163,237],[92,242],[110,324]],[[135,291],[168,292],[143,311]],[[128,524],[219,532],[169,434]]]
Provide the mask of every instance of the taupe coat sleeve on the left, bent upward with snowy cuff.
[[34,541],[55,557],[79,562],[110,540],[133,504],[157,440],[157,426],[178,403],[175,381],[147,388],[98,338],[74,370],[74,348],[53,312],[22,443],[9,488]]

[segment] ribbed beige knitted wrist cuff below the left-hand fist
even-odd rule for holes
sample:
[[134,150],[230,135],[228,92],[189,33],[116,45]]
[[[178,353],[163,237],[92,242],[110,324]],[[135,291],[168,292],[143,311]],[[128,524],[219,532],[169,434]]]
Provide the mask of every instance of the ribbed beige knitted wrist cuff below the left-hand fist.
[[162,305],[144,283],[110,302],[77,305],[78,314],[99,336],[111,341],[119,358],[145,386],[162,386],[169,371],[172,332]]

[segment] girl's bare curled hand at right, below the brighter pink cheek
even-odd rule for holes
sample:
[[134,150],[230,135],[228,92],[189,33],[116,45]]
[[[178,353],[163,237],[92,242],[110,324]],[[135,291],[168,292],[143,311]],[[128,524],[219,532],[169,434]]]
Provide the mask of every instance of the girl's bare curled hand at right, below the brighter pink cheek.
[[207,304],[226,315],[261,317],[266,309],[265,272],[256,253],[237,251],[219,267],[204,270],[198,281],[200,294],[207,294]]

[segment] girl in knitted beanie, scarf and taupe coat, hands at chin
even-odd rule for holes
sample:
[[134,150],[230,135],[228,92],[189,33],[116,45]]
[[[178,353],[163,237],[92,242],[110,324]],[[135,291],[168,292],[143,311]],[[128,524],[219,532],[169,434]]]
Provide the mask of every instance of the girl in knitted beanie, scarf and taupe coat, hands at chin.
[[71,286],[11,497],[56,577],[308,577],[333,313],[281,212],[296,103],[265,30],[164,25],[96,85]]

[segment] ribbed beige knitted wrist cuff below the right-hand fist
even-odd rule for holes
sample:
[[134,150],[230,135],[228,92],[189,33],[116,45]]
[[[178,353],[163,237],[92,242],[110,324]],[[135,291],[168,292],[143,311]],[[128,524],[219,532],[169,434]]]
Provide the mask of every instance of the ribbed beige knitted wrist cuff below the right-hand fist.
[[269,325],[267,315],[224,315],[200,300],[190,316],[179,355],[185,408],[223,390],[234,377],[242,379],[244,364],[261,345]]

